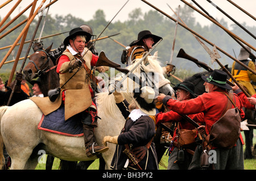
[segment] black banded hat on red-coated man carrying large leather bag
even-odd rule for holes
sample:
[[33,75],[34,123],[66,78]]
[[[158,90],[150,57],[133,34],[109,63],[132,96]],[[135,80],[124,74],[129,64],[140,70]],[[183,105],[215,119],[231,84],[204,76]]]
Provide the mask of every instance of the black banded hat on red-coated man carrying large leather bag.
[[218,87],[222,87],[224,89],[232,90],[232,87],[226,83],[226,78],[228,78],[228,74],[226,74],[222,70],[215,69],[210,75],[202,75],[201,78],[208,83],[216,85]]

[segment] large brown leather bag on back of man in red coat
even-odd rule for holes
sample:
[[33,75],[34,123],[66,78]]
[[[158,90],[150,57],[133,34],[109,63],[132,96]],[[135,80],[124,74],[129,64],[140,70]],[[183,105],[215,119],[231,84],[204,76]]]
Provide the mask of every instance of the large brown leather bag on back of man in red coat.
[[[216,121],[216,123],[214,123],[210,129],[209,143],[217,148],[233,148],[240,137],[240,110],[238,110],[238,108],[235,106],[236,104],[234,104],[230,98],[229,100],[227,108],[230,108],[226,108],[224,115],[218,121]],[[231,103],[236,108],[231,108]]]

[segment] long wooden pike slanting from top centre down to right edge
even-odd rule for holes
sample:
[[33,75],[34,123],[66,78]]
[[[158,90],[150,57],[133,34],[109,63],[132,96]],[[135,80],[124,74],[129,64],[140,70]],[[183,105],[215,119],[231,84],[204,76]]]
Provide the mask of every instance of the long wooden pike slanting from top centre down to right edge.
[[[147,2],[146,0],[141,0],[144,3],[146,3],[147,5],[151,6],[152,8],[154,8],[156,11],[159,11],[161,14],[167,16],[167,18],[170,18],[171,20],[173,20],[174,22],[176,22],[176,19],[172,18],[170,15],[168,15],[166,12],[163,12],[162,10],[158,9],[157,7],[155,7],[154,5],[152,5],[151,3]],[[185,24],[180,23],[180,26],[182,26],[183,28],[185,28],[186,30],[190,31],[191,33],[193,33],[194,35],[200,37],[200,39],[206,41],[208,44],[210,45],[214,45],[212,42],[210,42],[209,40],[205,39],[203,36],[199,35],[199,33],[193,31],[191,28],[189,28],[188,26],[185,26]],[[236,58],[234,58],[233,56],[231,56],[229,53],[225,52],[224,50],[222,50],[220,47],[216,48],[218,50],[220,50],[222,53],[226,54],[226,56],[232,58],[234,61],[236,61],[238,64],[240,64],[241,66],[243,66],[244,68],[246,68],[247,70],[251,71],[252,73],[254,73],[256,75],[256,71],[254,71],[253,69],[249,68],[248,66],[246,66],[245,64],[243,64],[241,61],[237,60]]]

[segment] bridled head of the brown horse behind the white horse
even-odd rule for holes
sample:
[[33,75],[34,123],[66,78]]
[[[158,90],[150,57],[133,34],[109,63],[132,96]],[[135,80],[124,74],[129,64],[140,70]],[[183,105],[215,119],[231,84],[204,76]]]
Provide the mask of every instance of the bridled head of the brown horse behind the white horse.
[[46,49],[38,49],[35,53],[31,54],[30,61],[27,66],[23,69],[23,73],[28,82],[32,79],[40,77],[46,69],[49,68],[52,61],[49,57],[49,52],[51,51],[52,44]]

